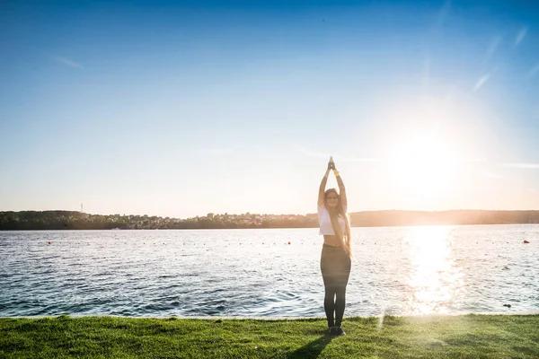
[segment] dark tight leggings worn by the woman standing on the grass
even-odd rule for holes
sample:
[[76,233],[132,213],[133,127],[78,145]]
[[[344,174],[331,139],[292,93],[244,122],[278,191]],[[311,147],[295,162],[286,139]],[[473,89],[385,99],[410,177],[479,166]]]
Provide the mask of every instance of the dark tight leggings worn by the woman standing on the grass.
[[323,309],[326,312],[329,327],[340,326],[342,322],[350,267],[349,255],[341,247],[323,245],[320,269],[325,288]]

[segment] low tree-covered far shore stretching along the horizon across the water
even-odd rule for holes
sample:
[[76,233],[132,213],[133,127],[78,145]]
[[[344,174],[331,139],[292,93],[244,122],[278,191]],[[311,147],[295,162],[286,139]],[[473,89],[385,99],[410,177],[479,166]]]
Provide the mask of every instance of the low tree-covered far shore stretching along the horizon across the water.
[[[539,210],[530,211],[365,211],[350,215],[352,227],[450,224],[539,223]],[[187,219],[148,215],[90,215],[76,211],[0,212],[0,231],[10,230],[111,230],[111,229],[226,229],[314,228],[318,216],[215,215]]]

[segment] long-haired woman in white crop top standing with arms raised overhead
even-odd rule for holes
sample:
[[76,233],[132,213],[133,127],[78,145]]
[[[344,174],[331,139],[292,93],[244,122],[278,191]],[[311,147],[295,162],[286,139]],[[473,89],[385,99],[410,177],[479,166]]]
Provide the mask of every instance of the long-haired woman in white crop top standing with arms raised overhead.
[[[339,184],[339,192],[335,188],[324,191],[331,170]],[[328,332],[335,336],[345,335],[340,324],[344,315],[346,285],[351,266],[347,205],[344,183],[339,171],[335,168],[333,159],[330,158],[328,170],[323,176],[318,192],[318,223],[320,234],[323,234],[322,258],[320,259],[325,288],[323,308],[328,320]]]

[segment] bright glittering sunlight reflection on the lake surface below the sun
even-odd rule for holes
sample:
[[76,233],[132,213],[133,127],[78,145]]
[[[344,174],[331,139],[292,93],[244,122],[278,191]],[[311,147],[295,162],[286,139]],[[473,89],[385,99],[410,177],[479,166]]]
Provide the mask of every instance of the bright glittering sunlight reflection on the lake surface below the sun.
[[464,287],[460,268],[452,258],[448,240],[450,226],[422,226],[409,229],[408,247],[411,273],[409,305],[412,314],[452,311],[457,294]]

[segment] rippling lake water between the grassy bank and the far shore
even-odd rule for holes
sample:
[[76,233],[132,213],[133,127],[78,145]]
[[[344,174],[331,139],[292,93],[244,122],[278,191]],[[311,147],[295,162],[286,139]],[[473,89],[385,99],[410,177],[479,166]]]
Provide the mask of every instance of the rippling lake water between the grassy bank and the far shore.
[[[538,224],[352,237],[345,316],[539,311]],[[324,317],[322,244],[317,228],[0,232],[0,316]]]

